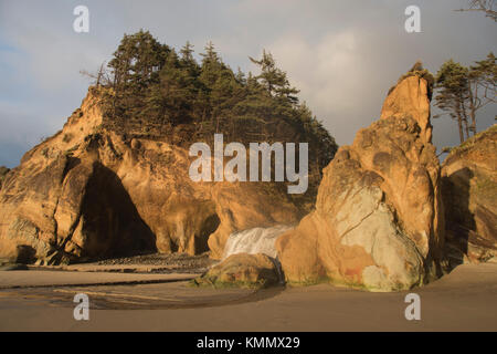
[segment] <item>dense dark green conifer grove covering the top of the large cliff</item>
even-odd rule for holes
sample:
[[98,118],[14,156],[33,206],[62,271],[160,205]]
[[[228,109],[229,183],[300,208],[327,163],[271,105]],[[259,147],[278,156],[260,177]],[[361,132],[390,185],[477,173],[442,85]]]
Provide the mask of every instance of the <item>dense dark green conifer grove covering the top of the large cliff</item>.
[[[94,75],[105,98],[106,124],[114,129],[177,145],[225,142],[309,143],[309,181],[317,186],[337,144],[290,86],[271,53],[251,59],[261,73],[234,72],[212,43],[193,58],[179,53],[148,31],[123,38],[108,67]],[[314,183],[313,183],[314,181]]]

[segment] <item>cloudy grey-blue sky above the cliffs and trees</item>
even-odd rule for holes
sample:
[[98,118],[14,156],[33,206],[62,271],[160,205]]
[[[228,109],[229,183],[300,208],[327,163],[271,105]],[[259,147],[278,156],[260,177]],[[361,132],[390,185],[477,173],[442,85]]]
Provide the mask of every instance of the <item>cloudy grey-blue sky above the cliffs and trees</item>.
[[[81,70],[96,71],[124,33],[149,30],[199,52],[212,41],[233,70],[269,51],[339,145],[378,119],[388,90],[416,60],[436,73],[448,59],[469,65],[497,53],[497,23],[457,12],[467,0],[0,0],[0,166],[60,131],[86,95]],[[89,10],[89,32],[73,30],[73,10]],[[408,33],[404,11],[421,10]],[[198,56],[199,58],[199,56]],[[433,103],[432,103],[433,106]],[[494,124],[496,105],[478,114]],[[436,114],[436,111],[434,111]],[[458,144],[457,125],[433,119],[433,143]]]

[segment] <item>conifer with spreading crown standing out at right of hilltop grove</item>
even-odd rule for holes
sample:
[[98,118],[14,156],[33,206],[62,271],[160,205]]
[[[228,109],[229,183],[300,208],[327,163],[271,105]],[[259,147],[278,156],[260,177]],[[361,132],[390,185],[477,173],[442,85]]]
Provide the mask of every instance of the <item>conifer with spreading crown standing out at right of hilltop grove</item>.
[[298,103],[298,98],[295,95],[299,91],[289,85],[286,73],[276,67],[276,62],[271,53],[266,53],[264,50],[261,60],[255,60],[251,56],[248,59],[260,66],[261,74],[256,79],[262,82],[271,95],[285,98],[292,104]]

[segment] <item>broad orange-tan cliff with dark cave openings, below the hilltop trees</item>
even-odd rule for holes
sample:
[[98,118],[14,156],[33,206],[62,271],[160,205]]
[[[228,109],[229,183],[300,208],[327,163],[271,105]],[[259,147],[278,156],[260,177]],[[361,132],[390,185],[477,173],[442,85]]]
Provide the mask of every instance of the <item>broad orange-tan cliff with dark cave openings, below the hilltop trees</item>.
[[221,258],[234,231],[298,221],[285,186],[193,183],[186,148],[123,134],[106,119],[91,90],[64,128],[7,175],[0,258],[32,253],[52,264],[209,249]]

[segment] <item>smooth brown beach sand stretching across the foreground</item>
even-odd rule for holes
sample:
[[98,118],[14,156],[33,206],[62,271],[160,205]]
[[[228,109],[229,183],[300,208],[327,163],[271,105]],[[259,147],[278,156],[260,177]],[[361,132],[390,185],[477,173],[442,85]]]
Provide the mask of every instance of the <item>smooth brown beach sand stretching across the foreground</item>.
[[[73,319],[80,291],[88,293],[89,321]],[[404,316],[408,291],[326,284],[255,293],[184,281],[3,289],[0,331],[497,331],[497,264],[459,266],[410,292],[421,296],[421,321]]]

